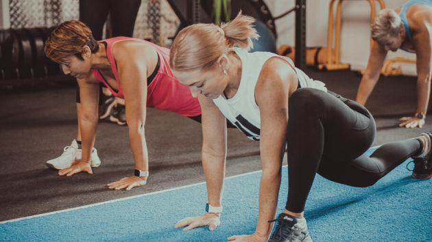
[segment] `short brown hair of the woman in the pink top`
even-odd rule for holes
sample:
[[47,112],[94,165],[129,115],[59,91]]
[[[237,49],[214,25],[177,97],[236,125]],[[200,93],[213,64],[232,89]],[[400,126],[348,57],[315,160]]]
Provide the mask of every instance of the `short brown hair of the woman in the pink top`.
[[91,29],[80,21],[67,21],[56,27],[45,42],[45,55],[60,63],[67,56],[82,58],[82,49],[88,46],[92,53],[99,50]]

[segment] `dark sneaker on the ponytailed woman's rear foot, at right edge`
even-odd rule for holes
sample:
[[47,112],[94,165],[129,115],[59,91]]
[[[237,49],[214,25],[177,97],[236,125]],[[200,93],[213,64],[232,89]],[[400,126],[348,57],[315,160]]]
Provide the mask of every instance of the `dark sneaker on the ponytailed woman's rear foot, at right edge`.
[[422,154],[418,157],[412,157],[414,169],[411,176],[416,179],[429,179],[432,177],[432,131],[422,133],[420,137],[423,137],[426,142],[423,145]]

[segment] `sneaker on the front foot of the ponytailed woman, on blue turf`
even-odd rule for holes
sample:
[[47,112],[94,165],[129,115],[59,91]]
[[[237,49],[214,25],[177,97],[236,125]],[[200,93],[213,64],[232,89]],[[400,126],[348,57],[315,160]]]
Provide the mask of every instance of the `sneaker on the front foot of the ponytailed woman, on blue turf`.
[[280,213],[277,219],[269,220],[269,222],[272,221],[278,221],[278,226],[276,226],[269,242],[312,241],[307,230],[306,219]]

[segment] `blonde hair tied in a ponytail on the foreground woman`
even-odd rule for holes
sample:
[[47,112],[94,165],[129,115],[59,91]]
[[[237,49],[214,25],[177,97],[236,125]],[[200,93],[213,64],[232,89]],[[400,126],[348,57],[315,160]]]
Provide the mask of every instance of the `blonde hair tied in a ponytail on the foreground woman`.
[[209,68],[233,46],[252,48],[250,38],[258,38],[254,18],[239,12],[232,21],[221,27],[213,23],[198,23],[182,29],[171,45],[169,64],[172,70]]

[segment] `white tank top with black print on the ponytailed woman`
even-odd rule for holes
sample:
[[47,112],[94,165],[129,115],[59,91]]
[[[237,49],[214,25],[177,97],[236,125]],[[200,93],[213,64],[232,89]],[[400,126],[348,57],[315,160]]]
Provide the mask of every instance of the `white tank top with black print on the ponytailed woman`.
[[[235,53],[241,59],[241,79],[239,89],[235,96],[226,99],[223,95],[213,99],[213,103],[219,108],[222,114],[240,129],[249,139],[258,141],[260,138],[261,118],[259,107],[255,101],[255,85],[258,81],[261,68],[267,59],[280,57],[285,59],[291,66],[294,66],[289,57],[276,55],[269,52],[248,53],[244,49],[234,48]],[[298,77],[298,88],[315,88],[327,92],[325,84],[321,81],[314,81],[302,70],[295,68]]]

